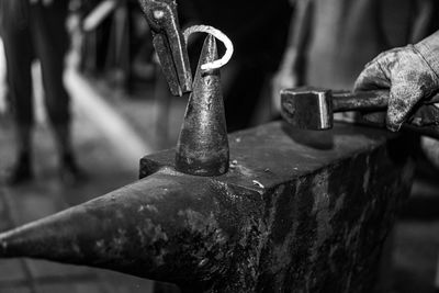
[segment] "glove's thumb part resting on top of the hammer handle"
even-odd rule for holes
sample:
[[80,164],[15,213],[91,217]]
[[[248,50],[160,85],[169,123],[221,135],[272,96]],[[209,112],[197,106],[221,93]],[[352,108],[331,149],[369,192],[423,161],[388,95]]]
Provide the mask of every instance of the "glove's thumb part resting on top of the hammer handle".
[[372,61],[365,66],[353,86],[354,91],[389,89],[391,81],[382,70],[379,61]]

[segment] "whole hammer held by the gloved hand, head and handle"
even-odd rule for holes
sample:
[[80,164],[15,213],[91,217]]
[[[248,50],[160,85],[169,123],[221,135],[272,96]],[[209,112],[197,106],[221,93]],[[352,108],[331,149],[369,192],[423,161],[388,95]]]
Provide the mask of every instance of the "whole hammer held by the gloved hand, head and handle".
[[[405,123],[403,128],[439,138],[439,109],[431,105],[437,102],[439,94],[417,110],[431,111],[430,116],[437,116],[435,123],[431,123],[434,125],[415,126]],[[335,112],[379,112],[385,111],[387,103],[389,90],[351,92],[304,87],[281,91],[281,115],[289,124],[303,129],[329,129],[333,127]]]

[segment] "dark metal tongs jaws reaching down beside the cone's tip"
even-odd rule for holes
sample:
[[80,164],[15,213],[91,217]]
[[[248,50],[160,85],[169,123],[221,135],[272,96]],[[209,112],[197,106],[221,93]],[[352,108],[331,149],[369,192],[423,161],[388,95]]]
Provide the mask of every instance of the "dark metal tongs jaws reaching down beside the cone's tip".
[[153,32],[153,44],[173,95],[192,91],[192,74],[175,0],[138,0]]

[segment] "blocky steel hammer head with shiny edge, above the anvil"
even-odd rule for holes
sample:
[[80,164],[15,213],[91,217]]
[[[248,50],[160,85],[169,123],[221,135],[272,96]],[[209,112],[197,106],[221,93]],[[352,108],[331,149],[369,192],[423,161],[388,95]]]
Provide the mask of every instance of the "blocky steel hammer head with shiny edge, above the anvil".
[[333,127],[331,91],[318,88],[297,88],[281,91],[281,115],[291,125],[323,131]]

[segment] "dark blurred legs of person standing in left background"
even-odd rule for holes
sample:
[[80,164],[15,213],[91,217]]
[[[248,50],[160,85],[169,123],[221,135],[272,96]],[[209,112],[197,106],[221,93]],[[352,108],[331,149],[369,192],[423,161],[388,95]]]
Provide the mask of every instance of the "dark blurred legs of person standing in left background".
[[64,58],[68,48],[67,12],[68,1],[64,0],[0,1],[0,34],[4,43],[8,88],[18,137],[16,162],[5,179],[9,184],[33,178],[31,65],[34,59],[41,61],[45,106],[58,148],[61,179],[71,182],[81,177],[70,142],[69,97],[63,84]]

